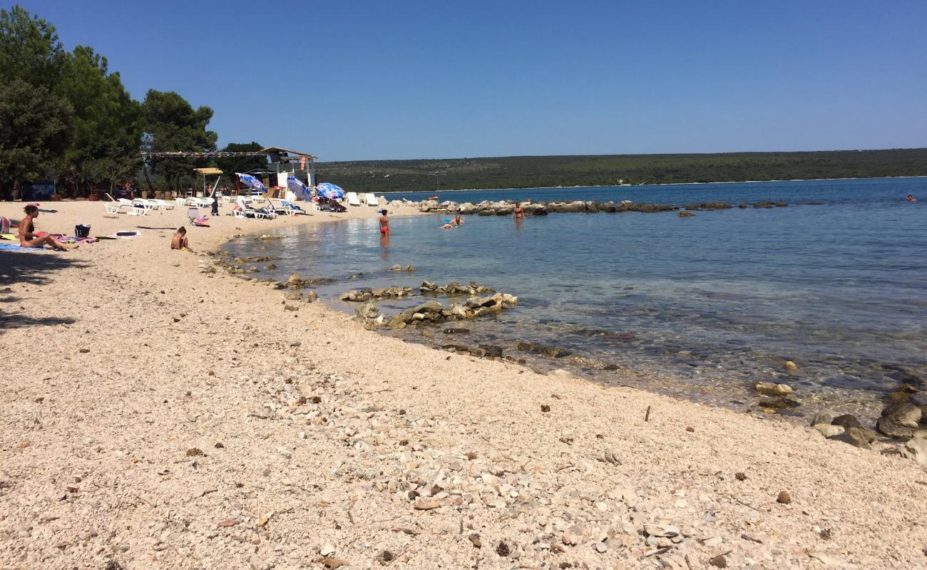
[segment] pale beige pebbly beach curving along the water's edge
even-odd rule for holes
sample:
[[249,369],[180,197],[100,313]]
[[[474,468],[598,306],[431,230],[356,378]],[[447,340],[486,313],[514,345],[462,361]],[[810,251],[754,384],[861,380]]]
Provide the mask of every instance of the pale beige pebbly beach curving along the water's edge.
[[927,568],[897,445],[404,343],[205,254],[374,208],[42,208],[142,235],[0,251],[0,568]]

